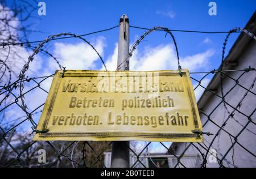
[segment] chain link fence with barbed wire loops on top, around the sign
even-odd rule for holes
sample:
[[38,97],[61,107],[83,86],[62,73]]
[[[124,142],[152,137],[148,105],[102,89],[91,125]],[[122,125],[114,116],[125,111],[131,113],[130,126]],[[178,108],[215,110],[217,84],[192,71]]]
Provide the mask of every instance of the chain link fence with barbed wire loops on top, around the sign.
[[[139,42],[150,32],[156,30],[164,31],[171,35],[176,47],[178,69],[180,70],[182,64],[179,62],[177,44],[174,35],[168,28],[156,27],[148,29],[131,47],[130,56],[132,56]],[[236,163],[235,159],[236,156],[241,154],[245,156],[245,159],[256,164],[255,148],[251,147],[251,144],[255,143],[256,133],[254,118],[256,110],[256,105],[254,105],[256,100],[254,87],[256,73],[255,68],[250,66],[242,69],[226,70],[225,48],[228,37],[233,32],[246,33],[252,39],[255,39],[253,33],[245,29],[232,29],[228,32],[224,41],[220,69],[191,73],[192,83],[195,84],[194,90],[203,88],[204,93],[212,95],[210,100],[218,99],[215,100],[217,102],[205,106],[207,110],[200,109],[204,129],[200,135],[204,136],[204,142],[172,144],[159,142],[157,143],[158,147],[164,148],[166,152],[157,155],[151,154],[148,149],[150,147],[154,148],[155,142],[131,142],[130,146],[127,146],[130,150],[130,167],[208,167],[208,164],[215,159],[217,167],[240,167],[240,163]],[[94,46],[82,36],[72,33],[59,33],[49,36],[46,40],[41,41],[38,46],[32,46],[29,43],[2,44],[2,50],[7,52],[7,56],[6,59],[1,59],[0,61],[1,167],[110,167],[112,142],[32,141],[44,103],[28,107],[30,101],[27,101],[27,96],[35,91],[47,94],[48,91],[44,88],[44,83],[47,80],[52,80],[53,74],[29,77],[26,72],[36,54],[51,57],[61,70],[65,70],[65,67],[60,64],[56,57],[46,49],[43,49],[44,45],[49,41],[61,39],[62,37],[77,38],[86,42],[96,51],[106,69],[102,57]],[[10,53],[8,49],[17,45],[31,49],[32,54],[24,63],[20,74],[13,76],[14,73],[11,71],[10,63],[8,63],[8,51]],[[204,79],[213,75],[220,80],[220,91],[215,91],[203,84]],[[226,87],[226,84],[229,84],[228,87]],[[216,116],[218,119],[216,119]],[[28,126],[32,130],[28,130]],[[30,134],[28,131],[32,133]],[[229,143],[226,142],[228,141],[227,138]],[[250,138],[250,141],[243,142],[245,138]],[[39,152],[41,149],[46,151],[46,161],[39,163],[39,157],[43,154],[43,151],[42,153]],[[209,159],[209,157],[212,158]]]

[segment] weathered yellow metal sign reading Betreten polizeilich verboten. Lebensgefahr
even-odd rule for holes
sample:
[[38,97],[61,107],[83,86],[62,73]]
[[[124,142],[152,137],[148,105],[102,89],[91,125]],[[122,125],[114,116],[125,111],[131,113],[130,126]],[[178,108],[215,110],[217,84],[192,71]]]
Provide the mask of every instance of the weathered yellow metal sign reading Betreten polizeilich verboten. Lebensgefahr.
[[188,70],[67,70],[55,73],[34,140],[202,142],[200,131]]

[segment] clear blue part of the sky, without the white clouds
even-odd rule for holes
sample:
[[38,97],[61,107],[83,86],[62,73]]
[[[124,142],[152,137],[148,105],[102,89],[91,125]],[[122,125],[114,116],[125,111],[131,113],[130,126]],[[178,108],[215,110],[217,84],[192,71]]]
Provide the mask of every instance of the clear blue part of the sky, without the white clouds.
[[[31,41],[45,39],[48,35],[60,32],[72,32],[77,35],[98,31],[100,29],[118,25],[119,17],[127,14],[130,25],[151,28],[154,26],[168,27],[170,29],[185,29],[197,31],[229,31],[234,27],[245,27],[253,15],[256,1],[214,1],[217,3],[217,16],[208,14],[210,1],[44,1],[46,2],[46,16],[34,16],[31,19],[32,29],[43,33],[32,33]],[[133,44],[144,30],[130,29],[130,42]],[[213,50],[209,66],[217,68],[221,61],[221,48],[225,34],[201,34],[174,32],[181,57],[192,56]],[[89,41],[94,41],[99,36],[105,37],[105,47],[102,56],[106,59],[112,56],[115,43],[118,42],[118,28],[96,35],[86,36]],[[233,34],[228,42],[228,50],[233,45],[238,34]],[[139,46],[154,48],[158,45],[172,44],[170,38],[164,38],[163,32],[155,32],[148,36]],[[76,39],[61,40],[58,42],[77,44]],[[47,47],[54,50],[54,43]],[[181,63],[181,66],[183,64]],[[93,68],[100,68],[100,61]],[[85,67],[86,68],[86,67]],[[205,69],[209,70],[209,69]]]

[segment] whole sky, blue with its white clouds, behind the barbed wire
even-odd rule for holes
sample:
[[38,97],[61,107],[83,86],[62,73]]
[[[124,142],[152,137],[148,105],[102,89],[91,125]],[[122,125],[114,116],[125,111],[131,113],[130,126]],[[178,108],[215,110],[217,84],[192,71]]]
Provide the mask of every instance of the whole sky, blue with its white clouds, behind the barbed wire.
[[[71,32],[77,35],[99,31],[118,25],[122,14],[127,14],[130,25],[152,28],[155,26],[169,29],[195,31],[229,31],[234,27],[245,27],[256,7],[255,0],[245,1],[214,1],[217,3],[217,15],[208,14],[210,1],[67,1],[44,0],[46,2],[46,16],[39,16],[37,12],[30,19],[32,30],[41,31],[31,33],[30,41],[43,40],[47,36],[61,32]],[[40,18],[40,19],[37,19]],[[130,45],[145,31],[130,28]],[[181,66],[190,71],[210,71],[217,69],[221,62],[222,44],[226,34],[203,34],[173,32],[179,54]],[[238,33],[232,34],[228,41],[227,52],[234,44]],[[134,57],[131,58],[132,70],[176,70],[176,54],[170,37],[164,37],[163,32],[154,32],[139,45]],[[85,37],[92,42],[107,64],[108,69],[115,69],[118,42],[118,28],[112,31],[97,33]],[[34,44],[36,45],[36,44]],[[67,69],[99,70],[102,68],[97,55],[86,44],[77,39],[52,41],[46,49],[56,56]],[[25,49],[22,49],[26,51]],[[28,57],[24,53],[24,58]],[[23,66],[23,65],[21,65]],[[46,56],[39,55],[31,64],[28,75],[31,77],[53,74],[56,64]],[[35,73],[35,71],[38,71]],[[33,73],[34,72],[34,73]],[[199,78],[198,75],[195,75]],[[202,83],[204,86],[210,81],[210,76]],[[49,83],[45,84],[49,88]],[[195,83],[194,83],[195,84]],[[203,89],[196,91],[197,99]],[[27,105],[31,109],[44,103],[46,94],[34,92],[28,99]],[[29,100],[28,100],[29,101]],[[38,103],[38,104],[35,104]]]

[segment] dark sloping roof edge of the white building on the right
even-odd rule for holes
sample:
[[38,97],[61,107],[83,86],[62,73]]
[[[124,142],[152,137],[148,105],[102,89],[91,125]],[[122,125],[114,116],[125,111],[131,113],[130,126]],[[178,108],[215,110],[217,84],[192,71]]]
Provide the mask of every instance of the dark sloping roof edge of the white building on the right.
[[[246,24],[245,29],[250,32],[256,31],[256,11],[254,11],[253,16],[251,16],[249,22]],[[240,61],[240,57],[245,52],[245,49],[250,44],[253,39],[246,35],[245,33],[241,33],[232,48],[228,56],[225,58],[222,70],[232,70],[234,69]],[[220,69],[220,68],[219,68]],[[220,86],[220,75],[221,73],[215,73],[212,80],[207,86],[207,89],[212,92],[217,92],[218,87]],[[197,102],[197,106],[199,110],[204,109],[205,104],[209,102],[210,97],[212,97],[213,93],[205,90],[203,95],[200,97],[199,101]]]

